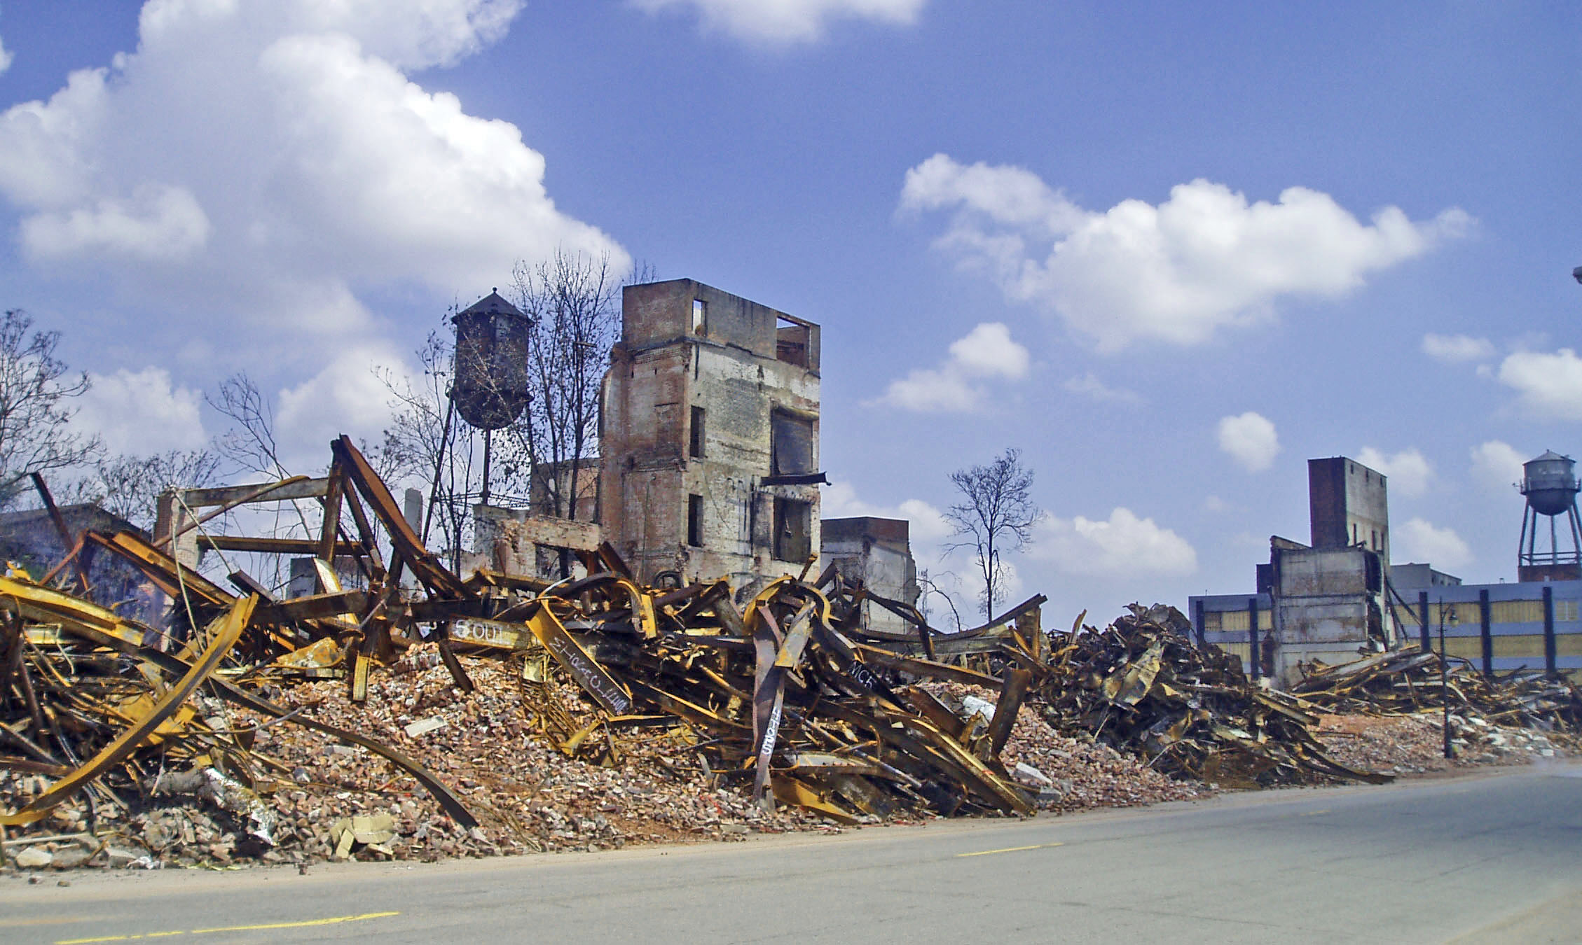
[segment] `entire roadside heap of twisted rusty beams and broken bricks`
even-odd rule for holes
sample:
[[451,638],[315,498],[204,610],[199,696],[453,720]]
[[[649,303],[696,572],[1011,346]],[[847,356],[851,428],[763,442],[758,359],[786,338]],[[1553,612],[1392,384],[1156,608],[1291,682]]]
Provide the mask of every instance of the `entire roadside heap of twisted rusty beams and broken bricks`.
[[[323,479],[210,490],[218,509],[163,544],[89,531],[49,575],[0,577],[8,861],[592,850],[1389,777],[1330,755],[1308,703],[1193,646],[1169,607],[1046,635],[1033,597],[940,634],[835,569],[747,597],[645,586],[609,545],[577,553],[579,578],[464,580],[350,439],[332,454]],[[277,599],[242,570],[233,593],[177,559],[184,531],[269,495],[318,501],[320,539],[204,540],[316,552],[313,593]],[[161,591],[169,619],[95,601],[93,555]],[[870,604],[910,629],[872,629]],[[1310,695],[1408,711],[1421,670],[1338,667]],[[1574,724],[1576,691],[1478,684],[1457,675],[1468,747],[1516,744],[1508,722]]]

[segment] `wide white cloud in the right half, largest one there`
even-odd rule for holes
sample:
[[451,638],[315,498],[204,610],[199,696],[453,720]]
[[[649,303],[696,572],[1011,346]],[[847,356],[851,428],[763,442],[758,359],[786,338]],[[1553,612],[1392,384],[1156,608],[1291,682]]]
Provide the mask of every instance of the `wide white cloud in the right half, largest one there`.
[[1196,344],[1267,318],[1286,296],[1342,297],[1471,224],[1459,209],[1413,221],[1398,207],[1361,223],[1304,186],[1248,202],[1202,179],[1175,185],[1158,205],[1087,210],[1025,168],[943,153],[906,172],[900,207],[949,212],[937,247],[1106,351],[1139,340]]

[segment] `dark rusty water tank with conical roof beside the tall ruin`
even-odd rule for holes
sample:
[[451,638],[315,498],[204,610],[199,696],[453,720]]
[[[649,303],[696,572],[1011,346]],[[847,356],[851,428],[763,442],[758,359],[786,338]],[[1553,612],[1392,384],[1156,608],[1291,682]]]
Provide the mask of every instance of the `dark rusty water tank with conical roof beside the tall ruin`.
[[451,397],[476,430],[500,430],[522,416],[530,398],[527,338],[532,322],[492,291],[459,311]]

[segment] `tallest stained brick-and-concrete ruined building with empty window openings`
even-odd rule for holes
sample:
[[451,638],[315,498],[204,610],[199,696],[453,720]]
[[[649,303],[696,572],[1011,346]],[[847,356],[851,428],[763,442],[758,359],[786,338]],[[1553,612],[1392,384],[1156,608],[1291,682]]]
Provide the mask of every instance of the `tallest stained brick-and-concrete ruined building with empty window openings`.
[[753,589],[816,556],[816,324],[693,280],[628,286],[603,397],[600,525],[641,580]]

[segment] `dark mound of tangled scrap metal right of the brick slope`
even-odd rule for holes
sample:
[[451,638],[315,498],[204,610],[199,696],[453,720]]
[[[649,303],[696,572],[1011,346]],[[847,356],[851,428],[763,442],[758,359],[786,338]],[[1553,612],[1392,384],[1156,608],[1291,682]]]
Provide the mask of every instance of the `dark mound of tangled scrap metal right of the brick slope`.
[[1153,770],[1224,787],[1389,781],[1332,759],[1308,706],[1251,684],[1240,661],[1198,648],[1188,631],[1174,607],[1133,604],[1103,631],[1057,637],[1038,684],[1044,717]]

